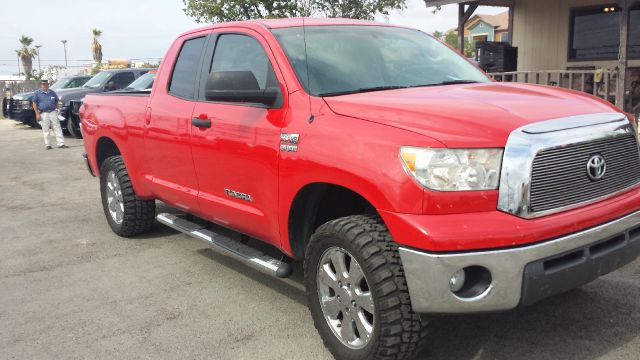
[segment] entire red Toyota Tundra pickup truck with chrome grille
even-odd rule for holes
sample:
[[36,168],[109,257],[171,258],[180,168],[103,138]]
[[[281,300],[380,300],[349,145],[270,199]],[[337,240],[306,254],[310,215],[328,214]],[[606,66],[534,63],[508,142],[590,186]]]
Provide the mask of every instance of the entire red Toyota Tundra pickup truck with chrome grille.
[[430,314],[526,306],[640,254],[630,115],[494,82],[413,29],[204,27],[151,94],[88,95],[81,116],[115,233],[157,219],[273,276],[303,261],[340,359],[414,357]]

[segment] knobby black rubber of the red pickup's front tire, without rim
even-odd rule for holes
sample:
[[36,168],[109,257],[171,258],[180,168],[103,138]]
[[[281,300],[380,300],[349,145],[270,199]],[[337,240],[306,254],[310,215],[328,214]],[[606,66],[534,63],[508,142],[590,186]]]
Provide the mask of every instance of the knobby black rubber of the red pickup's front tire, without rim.
[[[380,335],[373,358],[413,359],[425,347],[429,324],[412,310],[398,245],[393,241],[384,222],[377,215],[353,215],[329,221],[321,225],[311,237],[306,260],[317,251],[316,247],[322,244],[324,238],[336,236],[347,239],[359,250],[364,259],[361,266],[368,271],[369,287],[377,295],[375,305]],[[309,265],[310,261],[305,261],[305,284],[309,284],[310,280],[316,281],[315,269],[307,268]],[[314,301],[317,297],[317,294],[309,293],[307,286],[309,301]],[[320,320],[324,321],[324,318]],[[317,321],[314,317],[316,329],[320,331],[321,324]],[[331,350],[329,344],[324,339],[323,341]],[[335,353],[333,355],[336,356]]]

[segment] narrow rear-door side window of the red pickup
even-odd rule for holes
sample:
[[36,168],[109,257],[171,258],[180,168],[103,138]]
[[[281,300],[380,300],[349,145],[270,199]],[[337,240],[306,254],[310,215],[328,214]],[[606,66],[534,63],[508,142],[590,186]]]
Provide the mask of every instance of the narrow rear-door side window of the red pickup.
[[194,86],[196,75],[198,74],[198,65],[200,63],[200,54],[204,47],[204,37],[190,39],[184,42],[178,59],[173,68],[171,75],[171,83],[169,84],[169,93],[187,98],[194,98]]

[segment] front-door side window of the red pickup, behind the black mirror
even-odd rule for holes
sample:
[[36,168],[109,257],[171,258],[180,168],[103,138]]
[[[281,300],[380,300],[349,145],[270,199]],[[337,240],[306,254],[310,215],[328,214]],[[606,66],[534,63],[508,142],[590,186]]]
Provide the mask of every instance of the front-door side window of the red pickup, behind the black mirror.
[[[234,84],[216,81],[224,73],[235,72]],[[260,43],[246,35],[225,34],[218,38],[208,82],[216,90],[264,90],[278,86],[269,58]]]

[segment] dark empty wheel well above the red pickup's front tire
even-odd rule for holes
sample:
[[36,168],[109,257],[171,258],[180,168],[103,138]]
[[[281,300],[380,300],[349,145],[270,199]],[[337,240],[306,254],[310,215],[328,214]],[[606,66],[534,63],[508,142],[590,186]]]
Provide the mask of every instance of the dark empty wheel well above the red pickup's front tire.
[[293,257],[304,257],[307,243],[320,225],[358,214],[377,214],[377,211],[364,197],[345,187],[327,183],[305,186],[296,194],[289,212],[289,241]]

